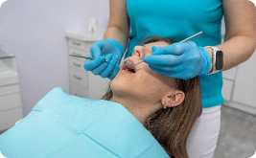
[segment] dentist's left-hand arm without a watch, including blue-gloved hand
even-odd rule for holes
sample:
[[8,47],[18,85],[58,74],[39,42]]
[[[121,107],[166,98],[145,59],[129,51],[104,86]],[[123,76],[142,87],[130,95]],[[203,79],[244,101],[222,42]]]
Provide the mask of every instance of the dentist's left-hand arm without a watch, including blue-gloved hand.
[[[105,40],[99,40],[91,47],[89,56],[95,59],[85,60],[84,69],[102,78],[114,79],[128,44],[129,18],[126,0],[110,0],[109,6]],[[110,62],[105,62],[105,58]]]

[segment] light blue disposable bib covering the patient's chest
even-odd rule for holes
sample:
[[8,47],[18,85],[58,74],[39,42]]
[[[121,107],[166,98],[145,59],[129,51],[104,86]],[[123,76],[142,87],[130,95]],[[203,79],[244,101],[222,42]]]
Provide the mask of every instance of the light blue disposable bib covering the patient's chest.
[[7,158],[169,158],[123,105],[70,96],[61,88],[0,135],[0,152]]

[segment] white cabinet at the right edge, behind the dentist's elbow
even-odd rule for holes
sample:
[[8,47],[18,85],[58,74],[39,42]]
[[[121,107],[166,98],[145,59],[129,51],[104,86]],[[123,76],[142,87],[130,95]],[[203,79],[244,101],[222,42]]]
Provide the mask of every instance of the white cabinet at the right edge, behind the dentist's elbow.
[[225,105],[256,115],[256,51],[244,63],[223,72]]

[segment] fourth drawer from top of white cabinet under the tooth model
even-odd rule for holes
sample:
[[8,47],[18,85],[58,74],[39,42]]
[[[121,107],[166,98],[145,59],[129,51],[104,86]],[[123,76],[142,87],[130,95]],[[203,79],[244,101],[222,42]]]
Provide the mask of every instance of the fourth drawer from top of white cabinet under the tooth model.
[[87,88],[87,72],[81,72],[80,70],[70,68],[70,80],[77,84],[80,84],[84,88]]

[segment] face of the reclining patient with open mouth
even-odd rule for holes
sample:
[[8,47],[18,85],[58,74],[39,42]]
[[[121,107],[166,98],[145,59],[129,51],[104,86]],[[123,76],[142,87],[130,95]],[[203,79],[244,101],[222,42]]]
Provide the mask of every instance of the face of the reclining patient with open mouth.
[[[137,63],[141,61],[143,57],[152,55],[152,46],[163,47],[167,45],[169,45],[169,43],[159,41],[143,46],[136,46],[133,49],[132,56],[128,57],[126,60]],[[120,67],[119,73],[110,84],[114,95],[127,97],[129,99],[137,98],[145,102],[159,102],[163,95],[174,90],[175,79],[152,71],[145,62],[138,64],[135,71],[126,70],[127,68],[124,64],[121,64]]]

